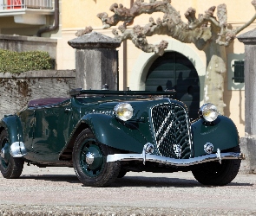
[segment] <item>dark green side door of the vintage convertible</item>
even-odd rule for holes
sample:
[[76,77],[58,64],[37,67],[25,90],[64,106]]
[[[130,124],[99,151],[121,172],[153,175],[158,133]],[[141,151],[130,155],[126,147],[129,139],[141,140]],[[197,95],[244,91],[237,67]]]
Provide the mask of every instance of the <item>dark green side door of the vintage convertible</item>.
[[35,111],[32,151],[35,161],[55,162],[69,138],[72,125],[70,102],[39,106]]

